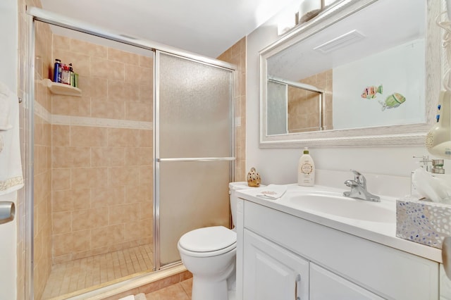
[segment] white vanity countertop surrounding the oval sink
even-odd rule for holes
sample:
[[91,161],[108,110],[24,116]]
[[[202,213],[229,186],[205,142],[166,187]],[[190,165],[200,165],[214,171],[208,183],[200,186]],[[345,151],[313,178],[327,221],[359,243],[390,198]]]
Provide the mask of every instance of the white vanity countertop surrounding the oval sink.
[[[261,204],[268,208],[273,208],[283,213],[289,213],[295,215],[298,218],[309,220],[314,223],[318,223],[335,230],[347,232],[350,235],[369,239],[373,242],[390,246],[401,251],[415,254],[424,258],[428,258],[432,261],[442,263],[442,254],[440,249],[426,246],[424,244],[418,244],[406,239],[396,237],[396,217],[393,218],[393,222],[372,222],[368,220],[357,220],[354,218],[345,218],[340,215],[333,215],[329,213],[322,213],[320,211],[312,210],[309,208],[302,208],[293,206],[289,201],[290,192],[344,192],[345,189],[337,189],[332,187],[324,187],[315,185],[314,187],[299,187],[296,184],[287,185],[287,192],[278,199],[266,199],[257,196],[266,187],[259,187],[253,189],[243,189],[237,191],[237,196],[247,201],[252,201],[256,204]],[[369,206],[379,206],[389,209],[390,211],[396,211],[396,198],[395,197],[381,197],[381,202],[370,203]],[[362,201],[362,200],[356,200]],[[395,215],[395,214],[394,214]]]

